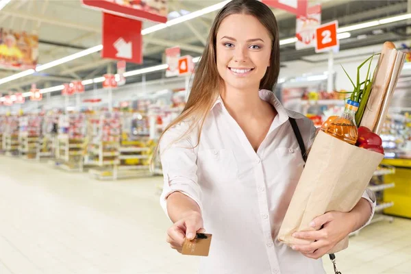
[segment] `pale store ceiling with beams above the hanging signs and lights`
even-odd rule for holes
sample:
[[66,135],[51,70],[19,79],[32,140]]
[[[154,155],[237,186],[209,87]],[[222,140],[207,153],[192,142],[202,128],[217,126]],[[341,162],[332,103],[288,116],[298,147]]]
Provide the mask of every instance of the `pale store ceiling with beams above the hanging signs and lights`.
[[[314,1],[311,1],[314,3]],[[319,1],[316,1],[319,2]],[[338,20],[340,27],[384,18],[408,12],[408,1],[403,0],[323,0],[323,23]],[[175,12],[193,12],[219,1],[169,1],[171,16]],[[280,38],[295,35],[295,16],[282,10],[274,10],[279,24]],[[153,32],[143,37],[144,64],[127,64],[127,70],[144,66],[153,66],[163,62],[166,47],[180,45],[182,54],[201,55],[210,25],[216,12],[194,18],[186,23]],[[143,28],[153,23],[144,23]],[[400,21],[351,32],[351,38],[340,40],[340,49],[353,49],[369,45],[382,44],[385,40],[406,40],[407,21]],[[0,11],[0,27],[14,31],[36,32],[39,35],[39,64],[62,58],[101,44],[101,12],[84,8],[80,0],[12,0]],[[366,35],[366,36],[364,36]],[[361,39],[358,36],[362,37]],[[294,44],[284,45],[282,64],[292,60],[307,62],[323,62],[324,56],[315,55],[313,49],[296,51]],[[311,56],[311,57],[308,57]],[[71,62],[45,71],[42,75],[23,77],[1,85],[0,90],[28,90],[29,85],[36,82],[39,88],[69,82],[72,79],[88,79],[101,76],[115,62],[103,60],[100,53],[87,55]],[[1,70],[0,77],[15,72]],[[147,75],[147,79],[162,77],[162,73]],[[127,78],[127,82],[140,81],[140,77]]]

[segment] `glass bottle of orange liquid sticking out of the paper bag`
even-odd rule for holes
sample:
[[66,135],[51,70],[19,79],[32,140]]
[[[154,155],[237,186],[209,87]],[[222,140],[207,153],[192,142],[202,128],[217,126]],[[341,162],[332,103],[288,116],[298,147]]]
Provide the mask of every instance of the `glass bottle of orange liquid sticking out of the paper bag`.
[[356,145],[358,138],[356,112],[359,105],[355,101],[348,100],[343,114],[329,123],[325,133],[351,145]]

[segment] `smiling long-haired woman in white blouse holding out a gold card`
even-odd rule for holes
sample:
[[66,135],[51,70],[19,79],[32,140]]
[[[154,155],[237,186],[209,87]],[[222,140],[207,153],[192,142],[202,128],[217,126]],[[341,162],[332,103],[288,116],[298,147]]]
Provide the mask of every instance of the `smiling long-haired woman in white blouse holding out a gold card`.
[[213,234],[200,273],[325,273],[312,259],[372,216],[365,192],[351,212],[328,212],[313,220],[316,231],[295,235],[316,242],[290,248],[277,240],[304,165],[289,117],[305,147],[316,132],[271,92],[278,74],[273,12],[256,0],[229,2],[214,20],[186,108],[160,140],[160,199],[174,223],[167,242],[181,252],[185,238]]

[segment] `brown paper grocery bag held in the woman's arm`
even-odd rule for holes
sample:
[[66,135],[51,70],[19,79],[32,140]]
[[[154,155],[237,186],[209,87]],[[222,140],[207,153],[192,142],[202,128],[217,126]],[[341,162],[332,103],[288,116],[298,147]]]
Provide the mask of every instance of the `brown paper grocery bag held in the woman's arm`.
[[[349,145],[319,132],[310,150],[278,239],[287,245],[307,244],[294,232],[310,231],[310,223],[329,211],[349,212],[360,201],[384,155]],[[330,253],[347,248],[343,240]]]

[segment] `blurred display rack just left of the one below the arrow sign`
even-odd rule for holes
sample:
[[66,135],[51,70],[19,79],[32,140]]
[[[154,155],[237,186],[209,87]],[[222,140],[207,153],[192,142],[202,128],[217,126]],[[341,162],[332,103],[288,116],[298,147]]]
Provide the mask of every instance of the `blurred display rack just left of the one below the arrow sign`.
[[55,164],[67,171],[83,171],[86,146],[85,114],[60,116]]

